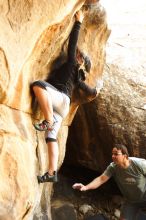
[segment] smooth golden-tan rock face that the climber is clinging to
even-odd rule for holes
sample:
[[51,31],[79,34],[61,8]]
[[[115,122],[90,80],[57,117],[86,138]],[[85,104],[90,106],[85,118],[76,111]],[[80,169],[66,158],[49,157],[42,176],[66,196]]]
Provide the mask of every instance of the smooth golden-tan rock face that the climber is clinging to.
[[[42,133],[33,128],[40,111],[34,111],[30,84],[45,79],[59,56],[74,23],[75,12],[85,1],[0,2],[0,219],[51,219],[52,184],[38,185],[36,176],[47,170],[47,149]],[[79,47],[92,60],[87,83],[95,86],[103,72],[109,36],[106,15],[98,2],[84,8],[86,16]],[[87,7],[88,6],[88,7]],[[73,98],[70,113],[59,133],[59,164],[65,154],[68,125],[80,96]]]

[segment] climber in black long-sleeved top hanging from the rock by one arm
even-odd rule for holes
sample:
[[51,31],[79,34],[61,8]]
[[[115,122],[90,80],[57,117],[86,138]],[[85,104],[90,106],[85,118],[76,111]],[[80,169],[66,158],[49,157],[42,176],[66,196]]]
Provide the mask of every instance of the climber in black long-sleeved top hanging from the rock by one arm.
[[35,81],[31,88],[41,107],[44,120],[34,124],[38,131],[45,131],[48,146],[49,168],[43,176],[38,176],[39,183],[57,181],[58,143],[57,134],[63,118],[69,112],[73,89],[80,88],[92,99],[97,96],[97,89],[85,84],[86,72],[90,71],[90,59],[77,48],[77,40],[84,15],[82,11],[75,14],[75,24],[70,34],[67,61],[55,72],[50,73],[46,81]]

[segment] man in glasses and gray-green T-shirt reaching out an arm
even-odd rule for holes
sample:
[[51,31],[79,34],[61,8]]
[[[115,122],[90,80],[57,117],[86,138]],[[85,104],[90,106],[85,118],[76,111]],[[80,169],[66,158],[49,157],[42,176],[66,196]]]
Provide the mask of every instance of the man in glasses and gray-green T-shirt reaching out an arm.
[[136,220],[139,211],[146,207],[146,160],[129,157],[127,148],[120,144],[113,148],[112,160],[102,175],[87,185],[75,183],[73,189],[96,189],[113,176],[125,198],[120,220]]

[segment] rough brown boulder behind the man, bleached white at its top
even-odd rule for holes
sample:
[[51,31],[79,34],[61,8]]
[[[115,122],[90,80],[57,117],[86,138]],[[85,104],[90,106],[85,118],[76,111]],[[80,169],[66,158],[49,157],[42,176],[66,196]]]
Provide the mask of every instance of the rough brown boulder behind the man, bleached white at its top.
[[112,2],[121,7],[111,11],[103,89],[94,102],[79,108],[66,157],[67,163],[100,172],[111,161],[115,143],[126,145],[131,156],[146,158],[146,32],[140,10],[146,3],[141,0],[124,11],[123,1]]

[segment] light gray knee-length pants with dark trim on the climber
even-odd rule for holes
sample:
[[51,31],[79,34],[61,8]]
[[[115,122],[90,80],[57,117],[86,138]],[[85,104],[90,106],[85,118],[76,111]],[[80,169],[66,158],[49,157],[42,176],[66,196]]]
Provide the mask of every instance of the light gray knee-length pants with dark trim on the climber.
[[52,131],[45,132],[45,138],[47,142],[53,141],[53,140],[55,141],[57,138],[62,120],[63,118],[67,116],[69,112],[70,98],[66,94],[64,94],[63,92],[60,92],[54,86],[52,86],[51,84],[45,81],[41,81],[41,80],[35,81],[32,84],[32,87],[33,86],[39,86],[42,89],[47,90],[47,92],[52,97],[54,126],[53,126]]

